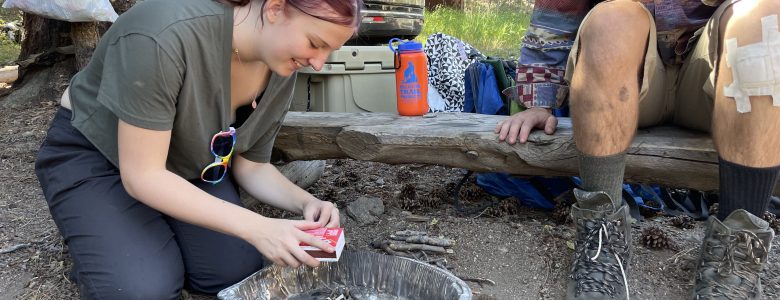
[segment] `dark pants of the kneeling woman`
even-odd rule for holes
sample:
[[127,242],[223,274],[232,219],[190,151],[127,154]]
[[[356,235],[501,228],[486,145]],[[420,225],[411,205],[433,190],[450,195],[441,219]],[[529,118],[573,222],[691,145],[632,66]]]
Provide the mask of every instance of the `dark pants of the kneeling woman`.
[[[177,221],[133,199],[119,170],[70,124],[61,108],[35,162],[54,222],[73,257],[85,299],[178,299],[187,284],[216,293],[260,269],[243,240]],[[230,177],[192,184],[241,205]]]

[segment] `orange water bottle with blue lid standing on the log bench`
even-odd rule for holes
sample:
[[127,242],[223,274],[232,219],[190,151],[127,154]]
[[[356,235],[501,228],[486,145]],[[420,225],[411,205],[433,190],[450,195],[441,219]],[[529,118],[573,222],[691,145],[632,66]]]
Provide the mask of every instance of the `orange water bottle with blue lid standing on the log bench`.
[[[398,48],[393,43],[399,42]],[[395,53],[395,94],[398,113],[402,116],[422,116],[428,112],[428,58],[422,44],[415,41],[390,40]]]

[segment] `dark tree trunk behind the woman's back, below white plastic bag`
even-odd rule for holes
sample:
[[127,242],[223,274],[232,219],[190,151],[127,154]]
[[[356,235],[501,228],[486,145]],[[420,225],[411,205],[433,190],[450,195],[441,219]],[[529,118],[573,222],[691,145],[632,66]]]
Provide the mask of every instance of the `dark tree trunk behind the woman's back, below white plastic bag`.
[[[112,0],[118,14],[136,0]],[[13,92],[0,102],[4,107],[33,101],[58,101],[70,78],[84,68],[109,23],[69,23],[25,13],[19,77]]]

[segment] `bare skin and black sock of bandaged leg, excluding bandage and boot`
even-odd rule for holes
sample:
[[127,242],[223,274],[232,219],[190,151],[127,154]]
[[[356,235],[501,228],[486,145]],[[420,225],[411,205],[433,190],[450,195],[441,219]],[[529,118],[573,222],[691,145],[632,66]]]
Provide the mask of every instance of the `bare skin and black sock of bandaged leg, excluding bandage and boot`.
[[740,208],[761,216],[777,180],[780,107],[772,106],[771,96],[751,96],[751,111],[739,113],[734,98],[724,95],[724,87],[732,84],[733,75],[722,45],[734,38],[739,47],[762,41],[761,17],[769,15],[780,16],[780,2],[741,1],[721,19],[712,121],[713,139],[721,158],[721,220]]

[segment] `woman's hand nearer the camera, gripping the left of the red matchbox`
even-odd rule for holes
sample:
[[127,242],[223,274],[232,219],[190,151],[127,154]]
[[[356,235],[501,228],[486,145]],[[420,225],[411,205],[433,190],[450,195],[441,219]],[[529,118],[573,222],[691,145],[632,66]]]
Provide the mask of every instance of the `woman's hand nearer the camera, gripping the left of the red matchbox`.
[[336,251],[327,242],[303,232],[322,227],[317,222],[260,218],[261,222],[255,226],[257,230],[250,233],[245,240],[274,264],[294,268],[301,264],[319,266],[320,262],[300,247],[301,242],[326,252]]

